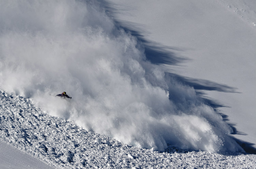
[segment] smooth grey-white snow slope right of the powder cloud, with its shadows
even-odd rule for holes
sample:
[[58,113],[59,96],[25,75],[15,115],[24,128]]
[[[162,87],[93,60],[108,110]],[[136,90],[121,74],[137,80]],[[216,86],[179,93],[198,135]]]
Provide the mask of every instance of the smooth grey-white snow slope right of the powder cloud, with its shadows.
[[[143,41],[150,59],[204,94],[232,125],[232,136],[255,153],[256,1],[107,2],[114,19]],[[175,57],[181,58],[178,66]]]

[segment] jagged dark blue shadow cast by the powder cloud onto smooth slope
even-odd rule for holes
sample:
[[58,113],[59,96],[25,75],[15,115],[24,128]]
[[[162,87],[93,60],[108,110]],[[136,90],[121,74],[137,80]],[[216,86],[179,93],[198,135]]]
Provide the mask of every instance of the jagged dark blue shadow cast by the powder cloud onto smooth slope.
[[[106,10],[107,14],[114,19],[114,24],[116,26],[119,26],[120,29],[124,30],[126,33],[129,33],[138,39],[139,46],[137,47],[140,48],[140,45],[143,47],[145,60],[150,61],[152,64],[155,65],[165,64],[173,66],[179,66],[181,63],[190,61],[189,58],[177,54],[177,51],[184,51],[186,49],[164,46],[159,43],[148,40],[146,38],[147,32],[141,29],[141,25],[134,22],[119,21],[115,19],[115,16],[118,15],[117,9],[113,7],[112,4],[106,1],[102,1],[101,4],[104,6],[104,9]],[[170,76],[171,79],[176,79],[181,84],[193,87],[195,89],[196,95],[199,96],[204,101],[205,104],[211,106],[217,114],[221,115],[223,120],[226,121],[230,128],[232,128],[232,135],[247,135],[246,133],[238,131],[237,128],[235,127],[236,124],[230,123],[228,116],[218,111],[219,107],[229,107],[228,105],[225,105],[219,102],[218,100],[206,97],[205,93],[203,92],[219,91],[229,93],[240,93],[237,91],[238,88],[231,87],[226,84],[219,84],[210,80],[185,77],[172,72],[166,72],[166,74]],[[171,95],[171,91],[169,92],[169,99],[175,102],[175,97],[179,96]],[[256,154],[256,149],[253,147],[253,143],[246,142],[234,137],[232,138],[245,150],[246,153]]]

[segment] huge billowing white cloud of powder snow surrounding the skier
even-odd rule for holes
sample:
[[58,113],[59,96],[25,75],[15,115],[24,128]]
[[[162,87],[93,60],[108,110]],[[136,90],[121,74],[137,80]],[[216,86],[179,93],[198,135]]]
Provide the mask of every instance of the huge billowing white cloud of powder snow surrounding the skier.
[[[143,148],[241,148],[193,88],[147,62],[94,1],[0,1],[0,87]],[[49,96],[66,91],[71,101]]]

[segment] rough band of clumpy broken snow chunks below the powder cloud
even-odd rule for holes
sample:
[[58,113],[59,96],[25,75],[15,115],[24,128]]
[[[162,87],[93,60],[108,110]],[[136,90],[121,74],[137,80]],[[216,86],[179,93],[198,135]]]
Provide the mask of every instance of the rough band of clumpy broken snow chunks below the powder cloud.
[[[33,102],[0,89],[0,139],[55,168],[255,168],[256,155],[223,154],[169,146],[129,146],[53,117]],[[11,160],[11,159],[10,159]]]

